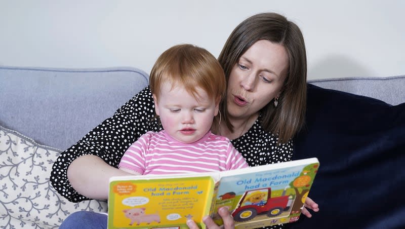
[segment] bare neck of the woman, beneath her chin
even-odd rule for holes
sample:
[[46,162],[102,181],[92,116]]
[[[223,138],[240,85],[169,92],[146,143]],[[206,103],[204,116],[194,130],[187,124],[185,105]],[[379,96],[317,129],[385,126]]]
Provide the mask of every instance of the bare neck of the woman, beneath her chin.
[[233,132],[231,132],[225,125],[225,122],[223,122],[220,124],[219,135],[225,136],[231,140],[238,138],[249,131],[258,117],[259,113],[254,113],[246,119],[234,119],[229,117],[229,122],[233,126]]

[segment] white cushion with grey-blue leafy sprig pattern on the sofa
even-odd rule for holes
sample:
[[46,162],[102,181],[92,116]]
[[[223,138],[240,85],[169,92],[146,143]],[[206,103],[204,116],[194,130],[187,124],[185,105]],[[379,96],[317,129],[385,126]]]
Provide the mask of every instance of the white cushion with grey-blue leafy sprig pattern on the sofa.
[[71,213],[107,212],[103,201],[68,202],[49,182],[60,150],[0,126],[0,227],[58,228]]

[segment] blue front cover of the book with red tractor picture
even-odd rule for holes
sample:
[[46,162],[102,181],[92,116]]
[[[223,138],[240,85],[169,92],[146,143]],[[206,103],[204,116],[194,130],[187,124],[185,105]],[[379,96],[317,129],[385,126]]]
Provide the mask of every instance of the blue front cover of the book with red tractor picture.
[[298,220],[319,167],[317,160],[302,162],[278,167],[250,167],[235,170],[234,174],[227,171],[220,180],[211,216],[221,224],[216,212],[218,208],[228,206],[236,228],[257,228]]

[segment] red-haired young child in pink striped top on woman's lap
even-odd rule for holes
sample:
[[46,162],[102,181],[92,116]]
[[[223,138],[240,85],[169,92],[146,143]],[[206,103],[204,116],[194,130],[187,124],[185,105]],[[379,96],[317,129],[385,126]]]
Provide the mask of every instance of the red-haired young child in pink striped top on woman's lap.
[[193,45],[166,50],[153,65],[149,85],[164,130],[142,135],[119,169],[146,175],[248,167],[228,138],[210,131],[226,91],[224,72],[211,53]]

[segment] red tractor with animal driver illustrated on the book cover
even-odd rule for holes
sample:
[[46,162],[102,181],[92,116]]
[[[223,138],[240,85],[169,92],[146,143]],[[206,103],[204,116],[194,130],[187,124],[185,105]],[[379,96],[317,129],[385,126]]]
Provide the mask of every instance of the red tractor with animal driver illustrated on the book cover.
[[291,196],[285,196],[287,187],[282,196],[271,198],[271,188],[249,190],[240,199],[237,208],[233,211],[233,219],[237,222],[248,221],[259,214],[266,213],[269,217],[280,215],[290,209]]

